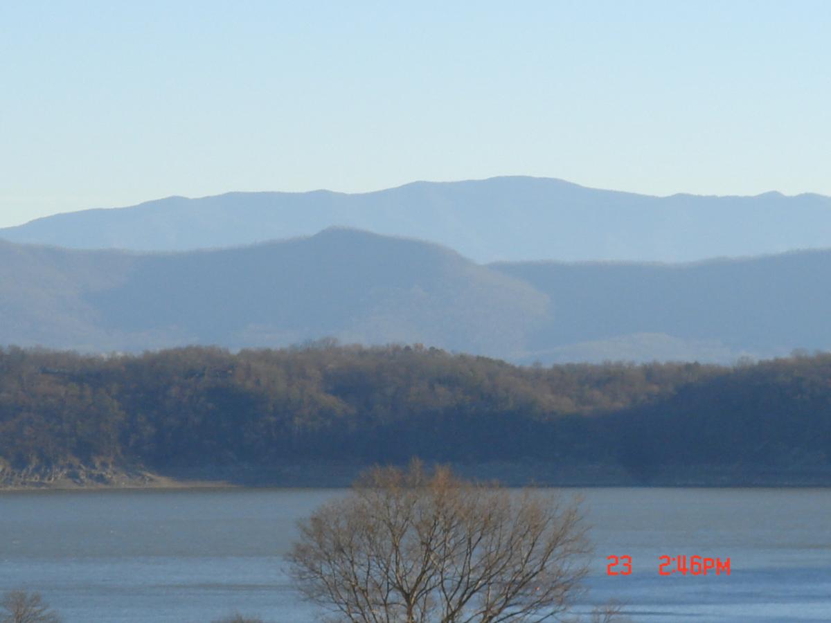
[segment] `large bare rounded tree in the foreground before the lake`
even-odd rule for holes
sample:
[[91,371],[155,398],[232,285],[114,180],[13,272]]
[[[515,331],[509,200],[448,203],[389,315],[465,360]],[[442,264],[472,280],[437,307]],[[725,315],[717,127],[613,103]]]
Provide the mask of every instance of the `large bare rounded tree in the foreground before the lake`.
[[301,522],[289,556],[338,621],[563,621],[590,551],[574,504],[468,483],[419,463],[374,468]]

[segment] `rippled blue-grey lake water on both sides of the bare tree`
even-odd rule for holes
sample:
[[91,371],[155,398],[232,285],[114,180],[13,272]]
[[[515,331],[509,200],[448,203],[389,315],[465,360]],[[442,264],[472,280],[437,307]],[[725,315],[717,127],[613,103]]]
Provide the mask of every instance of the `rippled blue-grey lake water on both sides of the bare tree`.
[[[831,490],[591,488],[597,545],[580,608],[632,621],[831,621]],[[337,490],[0,494],[0,593],[40,591],[66,623],[209,623],[232,611],[317,621],[283,554]],[[607,576],[606,557],[632,557]],[[730,558],[730,576],[661,576],[661,556]]]

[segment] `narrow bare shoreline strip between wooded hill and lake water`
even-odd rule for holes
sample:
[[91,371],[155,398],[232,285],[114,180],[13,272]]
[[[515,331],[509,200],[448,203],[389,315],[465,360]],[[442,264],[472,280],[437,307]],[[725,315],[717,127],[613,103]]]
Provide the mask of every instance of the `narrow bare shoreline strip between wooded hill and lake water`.
[[[751,465],[671,466],[641,477],[620,465],[544,462],[450,463],[463,478],[506,487],[551,488],[831,488],[831,465],[759,468]],[[199,488],[348,488],[371,464],[286,463],[199,467],[63,466],[0,468],[0,493]]]

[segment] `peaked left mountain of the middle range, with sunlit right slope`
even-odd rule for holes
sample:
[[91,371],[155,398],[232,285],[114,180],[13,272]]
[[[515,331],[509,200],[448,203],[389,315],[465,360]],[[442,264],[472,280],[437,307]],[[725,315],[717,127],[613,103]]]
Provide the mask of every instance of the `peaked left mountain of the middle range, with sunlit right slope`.
[[2,243],[0,266],[0,344],[20,346],[140,351],[337,336],[509,357],[548,310],[533,287],[447,249],[344,229],[172,254]]

